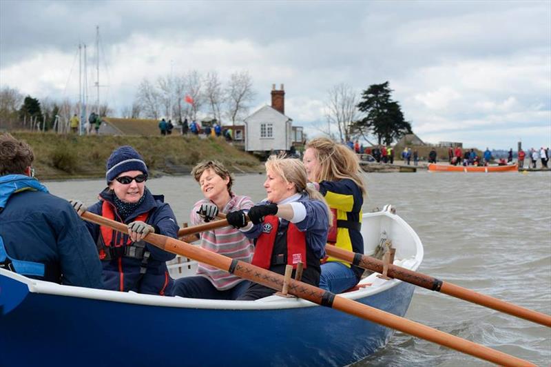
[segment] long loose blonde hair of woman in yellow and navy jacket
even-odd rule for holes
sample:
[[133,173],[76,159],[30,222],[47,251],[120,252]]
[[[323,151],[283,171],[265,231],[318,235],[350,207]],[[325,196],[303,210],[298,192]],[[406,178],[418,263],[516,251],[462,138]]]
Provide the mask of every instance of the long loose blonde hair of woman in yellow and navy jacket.
[[306,143],[306,149],[312,148],[315,157],[320,163],[317,181],[337,181],[339,179],[351,179],[362,191],[362,196],[367,195],[366,186],[362,179],[362,168],[357,155],[344,144],[319,137]]

